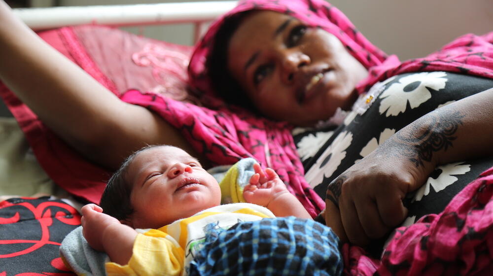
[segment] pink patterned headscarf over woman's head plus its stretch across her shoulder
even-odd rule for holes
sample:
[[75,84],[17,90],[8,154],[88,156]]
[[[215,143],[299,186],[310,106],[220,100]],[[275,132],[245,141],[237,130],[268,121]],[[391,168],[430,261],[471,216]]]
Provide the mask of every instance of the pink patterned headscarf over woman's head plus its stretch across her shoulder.
[[192,54],[188,73],[190,83],[207,95],[214,95],[206,60],[214,47],[219,28],[233,16],[248,10],[272,10],[288,14],[309,26],[319,27],[335,35],[366,69],[369,76],[358,84],[359,93],[366,92],[377,81],[393,75],[416,71],[450,71],[493,78],[493,32],[483,36],[464,35],[439,52],[422,59],[401,63],[388,56],[361,33],[339,9],[324,0],[241,0],[238,5],[215,21]]

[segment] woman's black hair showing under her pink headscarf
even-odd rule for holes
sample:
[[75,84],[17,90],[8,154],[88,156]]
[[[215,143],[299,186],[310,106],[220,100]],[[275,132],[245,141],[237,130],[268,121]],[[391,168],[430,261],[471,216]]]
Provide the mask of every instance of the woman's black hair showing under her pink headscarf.
[[231,37],[251,12],[251,10],[245,11],[225,19],[215,35],[211,52],[206,59],[206,68],[212,89],[224,102],[256,112],[257,109],[246,95],[244,88],[228,69],[228,47]]

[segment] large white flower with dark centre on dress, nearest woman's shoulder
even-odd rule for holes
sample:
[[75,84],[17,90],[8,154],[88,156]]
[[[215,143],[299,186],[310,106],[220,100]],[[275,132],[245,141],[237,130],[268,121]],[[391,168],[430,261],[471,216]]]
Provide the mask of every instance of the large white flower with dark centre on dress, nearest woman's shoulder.
[[431,98],[428,88],[445,88],[446,75],[445,72],[421,72],[400,78],[380,94],[383,99],[379,106],[380,114],[387,111],[387,117],[397,116],[406,111],[408,102],[411,108],[420,106]]

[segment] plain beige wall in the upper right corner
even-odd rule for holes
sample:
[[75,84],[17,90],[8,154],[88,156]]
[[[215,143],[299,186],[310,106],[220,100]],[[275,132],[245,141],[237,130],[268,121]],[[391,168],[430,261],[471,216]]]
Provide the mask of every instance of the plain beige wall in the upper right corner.
[[331,0],[358,30],[401,60],[423,57],[454,38],[493,31],[492,0]]

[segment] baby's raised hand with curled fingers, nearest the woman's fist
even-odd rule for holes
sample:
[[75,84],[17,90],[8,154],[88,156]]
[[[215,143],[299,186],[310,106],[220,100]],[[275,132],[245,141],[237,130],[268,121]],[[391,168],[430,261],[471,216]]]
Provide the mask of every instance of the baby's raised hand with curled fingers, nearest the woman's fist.
[[255,174],[250,183],[243,189],[243,197],[247,203],[268,207],[269,203],[284,193],[289,193],[284,182],[274,170],[264,171],[258,163],[253,165]]

